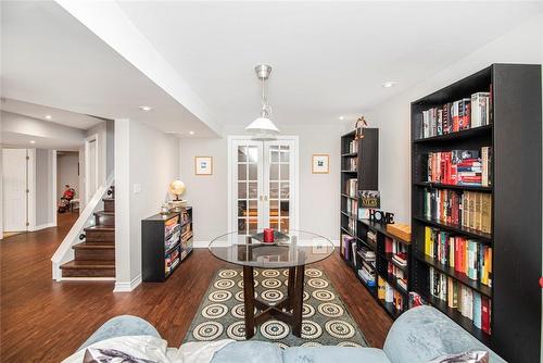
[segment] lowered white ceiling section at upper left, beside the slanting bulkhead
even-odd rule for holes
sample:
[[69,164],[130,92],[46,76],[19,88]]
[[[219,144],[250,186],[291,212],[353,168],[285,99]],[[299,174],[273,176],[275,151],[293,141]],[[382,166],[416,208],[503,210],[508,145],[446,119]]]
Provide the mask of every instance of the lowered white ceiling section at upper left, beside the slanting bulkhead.
[[[130,118],[179,136],[189,130],[200,137],[216,136],[55,2],[1,1],[0,5],[2,97],[104,118]],[[140,105],[153,110],[143,112]]]

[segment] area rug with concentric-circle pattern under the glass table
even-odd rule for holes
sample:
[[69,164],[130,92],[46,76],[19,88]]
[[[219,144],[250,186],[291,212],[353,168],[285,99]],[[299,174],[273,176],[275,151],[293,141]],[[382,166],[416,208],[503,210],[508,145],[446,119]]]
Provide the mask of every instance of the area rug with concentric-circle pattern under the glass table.
[[[287,296],[288,270],[255,268],[254,276],[258,299],[273,304]],[[321,270],[305,270],[303,300],[301,338],[292,335],[288,324],[269,320],[255,328],[251,340],[272,341],[281,348],[368,346]],[[210,284],[184,342],[227,338],[245,340],[244,313],[242,271],[220,270]]]

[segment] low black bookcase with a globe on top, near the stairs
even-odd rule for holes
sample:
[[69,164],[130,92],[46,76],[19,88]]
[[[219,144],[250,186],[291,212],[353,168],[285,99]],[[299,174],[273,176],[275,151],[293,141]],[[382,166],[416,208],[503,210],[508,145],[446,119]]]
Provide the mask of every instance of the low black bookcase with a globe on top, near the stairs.
[[192,208],[141,221],[141,270],[146,283],[165,281],[192,251]]

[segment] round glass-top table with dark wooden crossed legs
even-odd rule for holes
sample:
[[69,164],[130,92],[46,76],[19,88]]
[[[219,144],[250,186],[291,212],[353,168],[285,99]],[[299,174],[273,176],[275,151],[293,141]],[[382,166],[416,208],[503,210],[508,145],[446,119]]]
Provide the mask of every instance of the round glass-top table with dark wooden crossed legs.
[[[235,231],[216,237],[209,247],[217,259],[243,266],[247,339],[254,336],[257,325],[269,318],[290,324],[292,334],[301,337],[305,265],[333,253],[333,243],[328,238],[310,231],[275,231],[274,236],[274,243],[265,243],[262,231],[251,236]],[[288,268],[287,297],[269,304],[255,298],[253,268]],[[258,310],[256,314],[255,308]]]

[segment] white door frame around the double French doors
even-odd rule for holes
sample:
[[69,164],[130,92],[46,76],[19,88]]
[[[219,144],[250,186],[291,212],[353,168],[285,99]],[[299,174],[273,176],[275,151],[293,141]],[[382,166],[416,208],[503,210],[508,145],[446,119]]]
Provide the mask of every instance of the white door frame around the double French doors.
[[[233,166],[233,141],[235,140],[253,140],[253,137],[250,135],[243,135],[243,136],[235,136],[230,135],[228,136],[228,231],[235,231],[230,230],[233,222],[233,215],[232,215],[232,187],[233,187],[233,173],[232,173],[232,166]],[[299,151],[299,137],[298,136],[278,136],[277,140],[292,140],[294,141],[294,152],[293,152],[293,161],[292,161],[292,166],[294,170],[294,185],[292,186],[292,190],[294,191],[294,198],[292,199],[292,202],[294,204],[294,224],[291,225],[292,229],[300,229],[300,151]]]

